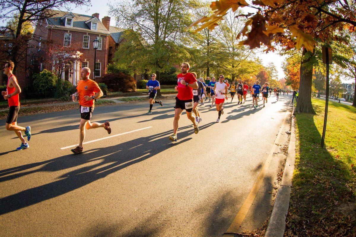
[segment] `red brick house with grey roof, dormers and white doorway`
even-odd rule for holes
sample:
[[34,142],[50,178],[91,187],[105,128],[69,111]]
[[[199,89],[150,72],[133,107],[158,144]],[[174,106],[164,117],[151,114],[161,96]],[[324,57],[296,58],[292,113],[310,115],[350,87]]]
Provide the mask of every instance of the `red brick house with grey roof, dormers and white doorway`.
[[[91,16],[51,10],[53,17],[39,21],[33,33],[32,48],[28,52],[28,63],[33,66],[33,72],[43,69],[52,70],[52,62],[48,54],[56,53],[56,47],[51,43],[63,47],[75,45],[78,51],[73,54],[73,60],[64,66],[62,78],[76,85],[80,80],[82,67],[91,69],[91,79],[99,80],[106,73],[108,64],[109,46],[111,37],[107,27],[99,20],[99,14]],[[105,17],[103,18],[104,23]],[[35,40],[36,38],[36,40]],[[94,39],[99,40],[99,48],[96,50],[96,62],[94,65]]]

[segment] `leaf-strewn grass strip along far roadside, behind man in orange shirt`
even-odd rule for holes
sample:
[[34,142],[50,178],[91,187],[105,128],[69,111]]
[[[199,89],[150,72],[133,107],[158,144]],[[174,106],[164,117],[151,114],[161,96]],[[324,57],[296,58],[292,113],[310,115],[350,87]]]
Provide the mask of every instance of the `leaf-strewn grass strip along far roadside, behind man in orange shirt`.
[[[106,99],[101,99],[96,101],[95,106],[101,106],[101,105],[112,104],[112,103],[115,102]],[[43,114],[43,113],[64,111],[70,109],[78,109],[78,108],[79,108],[79,104],[77,103],[60,105],[60,106],[54,105],[54,106],[23,107],[20,108],[19,116]],[[0,119],[6,119],[8,112],[9,112],[8,110],[0,111]]]

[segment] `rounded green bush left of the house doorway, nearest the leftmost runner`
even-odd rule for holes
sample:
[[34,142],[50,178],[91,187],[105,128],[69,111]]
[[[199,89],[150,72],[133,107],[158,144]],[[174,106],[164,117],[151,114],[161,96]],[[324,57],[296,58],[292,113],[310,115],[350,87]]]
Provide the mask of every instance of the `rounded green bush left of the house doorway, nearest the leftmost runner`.
[[43,70],[40,73],[33,74],[33,87],[37,93],[45,93],[45,91],[52,91],[56,85],[57,77],[53,72]]

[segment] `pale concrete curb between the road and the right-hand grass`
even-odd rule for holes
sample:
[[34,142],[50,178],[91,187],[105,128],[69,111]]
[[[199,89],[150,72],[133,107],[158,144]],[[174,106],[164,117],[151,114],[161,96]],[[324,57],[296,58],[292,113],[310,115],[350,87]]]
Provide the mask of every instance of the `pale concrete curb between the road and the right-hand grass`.
[[289,148],[286,164],[284,166],[281,185],[278,188],[276,201],[273,205],[271,218],[269,219],[265,237],[283,237],[286,230],[286,218],[288,215],[290,192],[295,162],[295,128],[292,117]]

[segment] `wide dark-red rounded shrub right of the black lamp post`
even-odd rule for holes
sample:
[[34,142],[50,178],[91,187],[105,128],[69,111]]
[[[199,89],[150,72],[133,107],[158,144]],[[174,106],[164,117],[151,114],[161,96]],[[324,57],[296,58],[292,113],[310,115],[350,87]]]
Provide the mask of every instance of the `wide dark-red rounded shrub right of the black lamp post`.
[[101,80],[111,91],[134,92],[136,91],[136,80],[132,76],[122,72],[104,75]]

